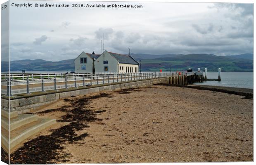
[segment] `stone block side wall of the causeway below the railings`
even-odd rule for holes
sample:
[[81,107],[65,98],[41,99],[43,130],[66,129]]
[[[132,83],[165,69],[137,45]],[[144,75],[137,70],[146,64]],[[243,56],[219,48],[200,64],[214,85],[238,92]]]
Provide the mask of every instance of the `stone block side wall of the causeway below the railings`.
[[[130,82],[118,82],[118,83],[110,83],[106,85],[92,85],[91,87],[79,87],[72,88],[69,91],[59,91],[52,93],[43,93],[40,95],[19,97],[19,98],[11,98],[10,99],[10,111],[18,111],[18,113],[28,113],[31,110],[34,110],[40,106],[50,104],[59,99],[64,99],[71,96],[79,96],[85,95],[95,92],[103,92],[103,91],[114,91],[121,90],[127,88],[135,88],[135,87],[145,87],[149,85],[154,85],[158,83],[169,83],[170,78],[155,78],[155,79],[147,79],[147,80],[135,80]],[[1,97],[1,109],[8,111],[8,99]]]

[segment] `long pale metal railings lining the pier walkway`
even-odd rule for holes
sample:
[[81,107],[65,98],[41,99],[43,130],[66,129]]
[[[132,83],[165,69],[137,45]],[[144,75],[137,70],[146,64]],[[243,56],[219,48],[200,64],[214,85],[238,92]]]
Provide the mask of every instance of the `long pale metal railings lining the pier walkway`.
[[[175,73],[176,74],[176,73]],[[142,73],[14,73],[1,74],[1,94],[31,94],[47,90],[68,89],[113,82],[153,79],[171,76],[169,72]]]

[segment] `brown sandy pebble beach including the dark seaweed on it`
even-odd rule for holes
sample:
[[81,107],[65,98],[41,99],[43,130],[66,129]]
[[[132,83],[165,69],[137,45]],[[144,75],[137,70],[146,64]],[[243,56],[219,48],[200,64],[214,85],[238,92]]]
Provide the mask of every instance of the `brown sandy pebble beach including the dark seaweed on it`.
[[57,124],[11,163],[253,161],[253,99],[244,98],[153,85],[59,100],[36,112]]

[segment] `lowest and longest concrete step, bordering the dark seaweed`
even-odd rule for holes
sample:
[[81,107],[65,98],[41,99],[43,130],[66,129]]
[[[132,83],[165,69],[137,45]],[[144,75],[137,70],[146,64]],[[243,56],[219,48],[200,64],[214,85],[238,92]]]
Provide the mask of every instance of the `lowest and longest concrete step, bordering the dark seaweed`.
[[33,134],[36,134],[46,127],[49,127],[56,123],[56,119],[49,119],[49,118],[38,118],[37,121],[31,122],[29,124],[23,125],[18,127],[15,130],[10,132],[10,146],[8,145],[8,134],[6,133],[5,129],[1,127],[1,146],[8,151],[10,147],[10,152],[14,151],[15,147],[20,144],[22,141],[28,139]]

